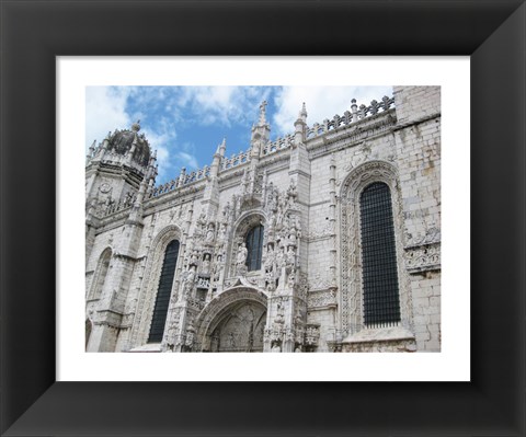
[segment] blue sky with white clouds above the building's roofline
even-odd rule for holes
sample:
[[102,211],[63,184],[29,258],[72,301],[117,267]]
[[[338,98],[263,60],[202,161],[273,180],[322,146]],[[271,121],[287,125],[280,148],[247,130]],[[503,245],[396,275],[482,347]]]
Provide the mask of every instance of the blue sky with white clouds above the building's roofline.
[[392,95],[392,87],[87,87],[85,150],[107,133],[140,119],[141,131],[158,151],[161,184],[211,163],[227,138],[227,156],[247,150],[260,103],[267,101],[271,139],[291,134],[301,103],[307,124],[342,115],[351,107]]

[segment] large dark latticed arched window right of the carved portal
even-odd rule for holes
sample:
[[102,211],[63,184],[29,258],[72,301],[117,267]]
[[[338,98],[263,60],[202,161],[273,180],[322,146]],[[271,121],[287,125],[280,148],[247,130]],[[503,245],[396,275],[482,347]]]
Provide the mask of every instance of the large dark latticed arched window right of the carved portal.
[[391,194],[380,182],[368,185],[359,198],[364,322],[367,326],[400,321],[397,252]]

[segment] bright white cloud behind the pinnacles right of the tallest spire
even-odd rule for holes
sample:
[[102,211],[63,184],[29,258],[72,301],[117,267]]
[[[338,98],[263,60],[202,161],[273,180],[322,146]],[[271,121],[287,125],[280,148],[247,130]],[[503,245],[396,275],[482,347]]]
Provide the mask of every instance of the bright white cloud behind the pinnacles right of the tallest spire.
[[356,99],[359,106],[368,105],[371,100],[379,102],[384,95],[391,96],[392,87],[284,87],[274,100],[278,111],[272,117],[272,127],[279,136],[291,134],[304,102],[307,124],[312,126],[351,111],[352,99]]

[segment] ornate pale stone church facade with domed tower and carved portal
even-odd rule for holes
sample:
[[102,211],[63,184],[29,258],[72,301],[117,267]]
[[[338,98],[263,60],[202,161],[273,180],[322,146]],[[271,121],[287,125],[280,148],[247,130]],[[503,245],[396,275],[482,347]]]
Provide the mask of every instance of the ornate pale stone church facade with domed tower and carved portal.
[[140,126],[85,166],[88,352],[439,352],[441,89],[392,96],[156,186]]

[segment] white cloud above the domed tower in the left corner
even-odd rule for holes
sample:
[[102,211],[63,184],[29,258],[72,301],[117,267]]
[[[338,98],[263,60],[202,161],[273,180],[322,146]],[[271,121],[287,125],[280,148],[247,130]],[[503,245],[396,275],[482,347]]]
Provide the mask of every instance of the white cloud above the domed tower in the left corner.
[[108,131],[129,128],[132,118],[126,113],[126,101],[133,92],[130,87],[85,88],[85,149],[93,140],[102,142]]

